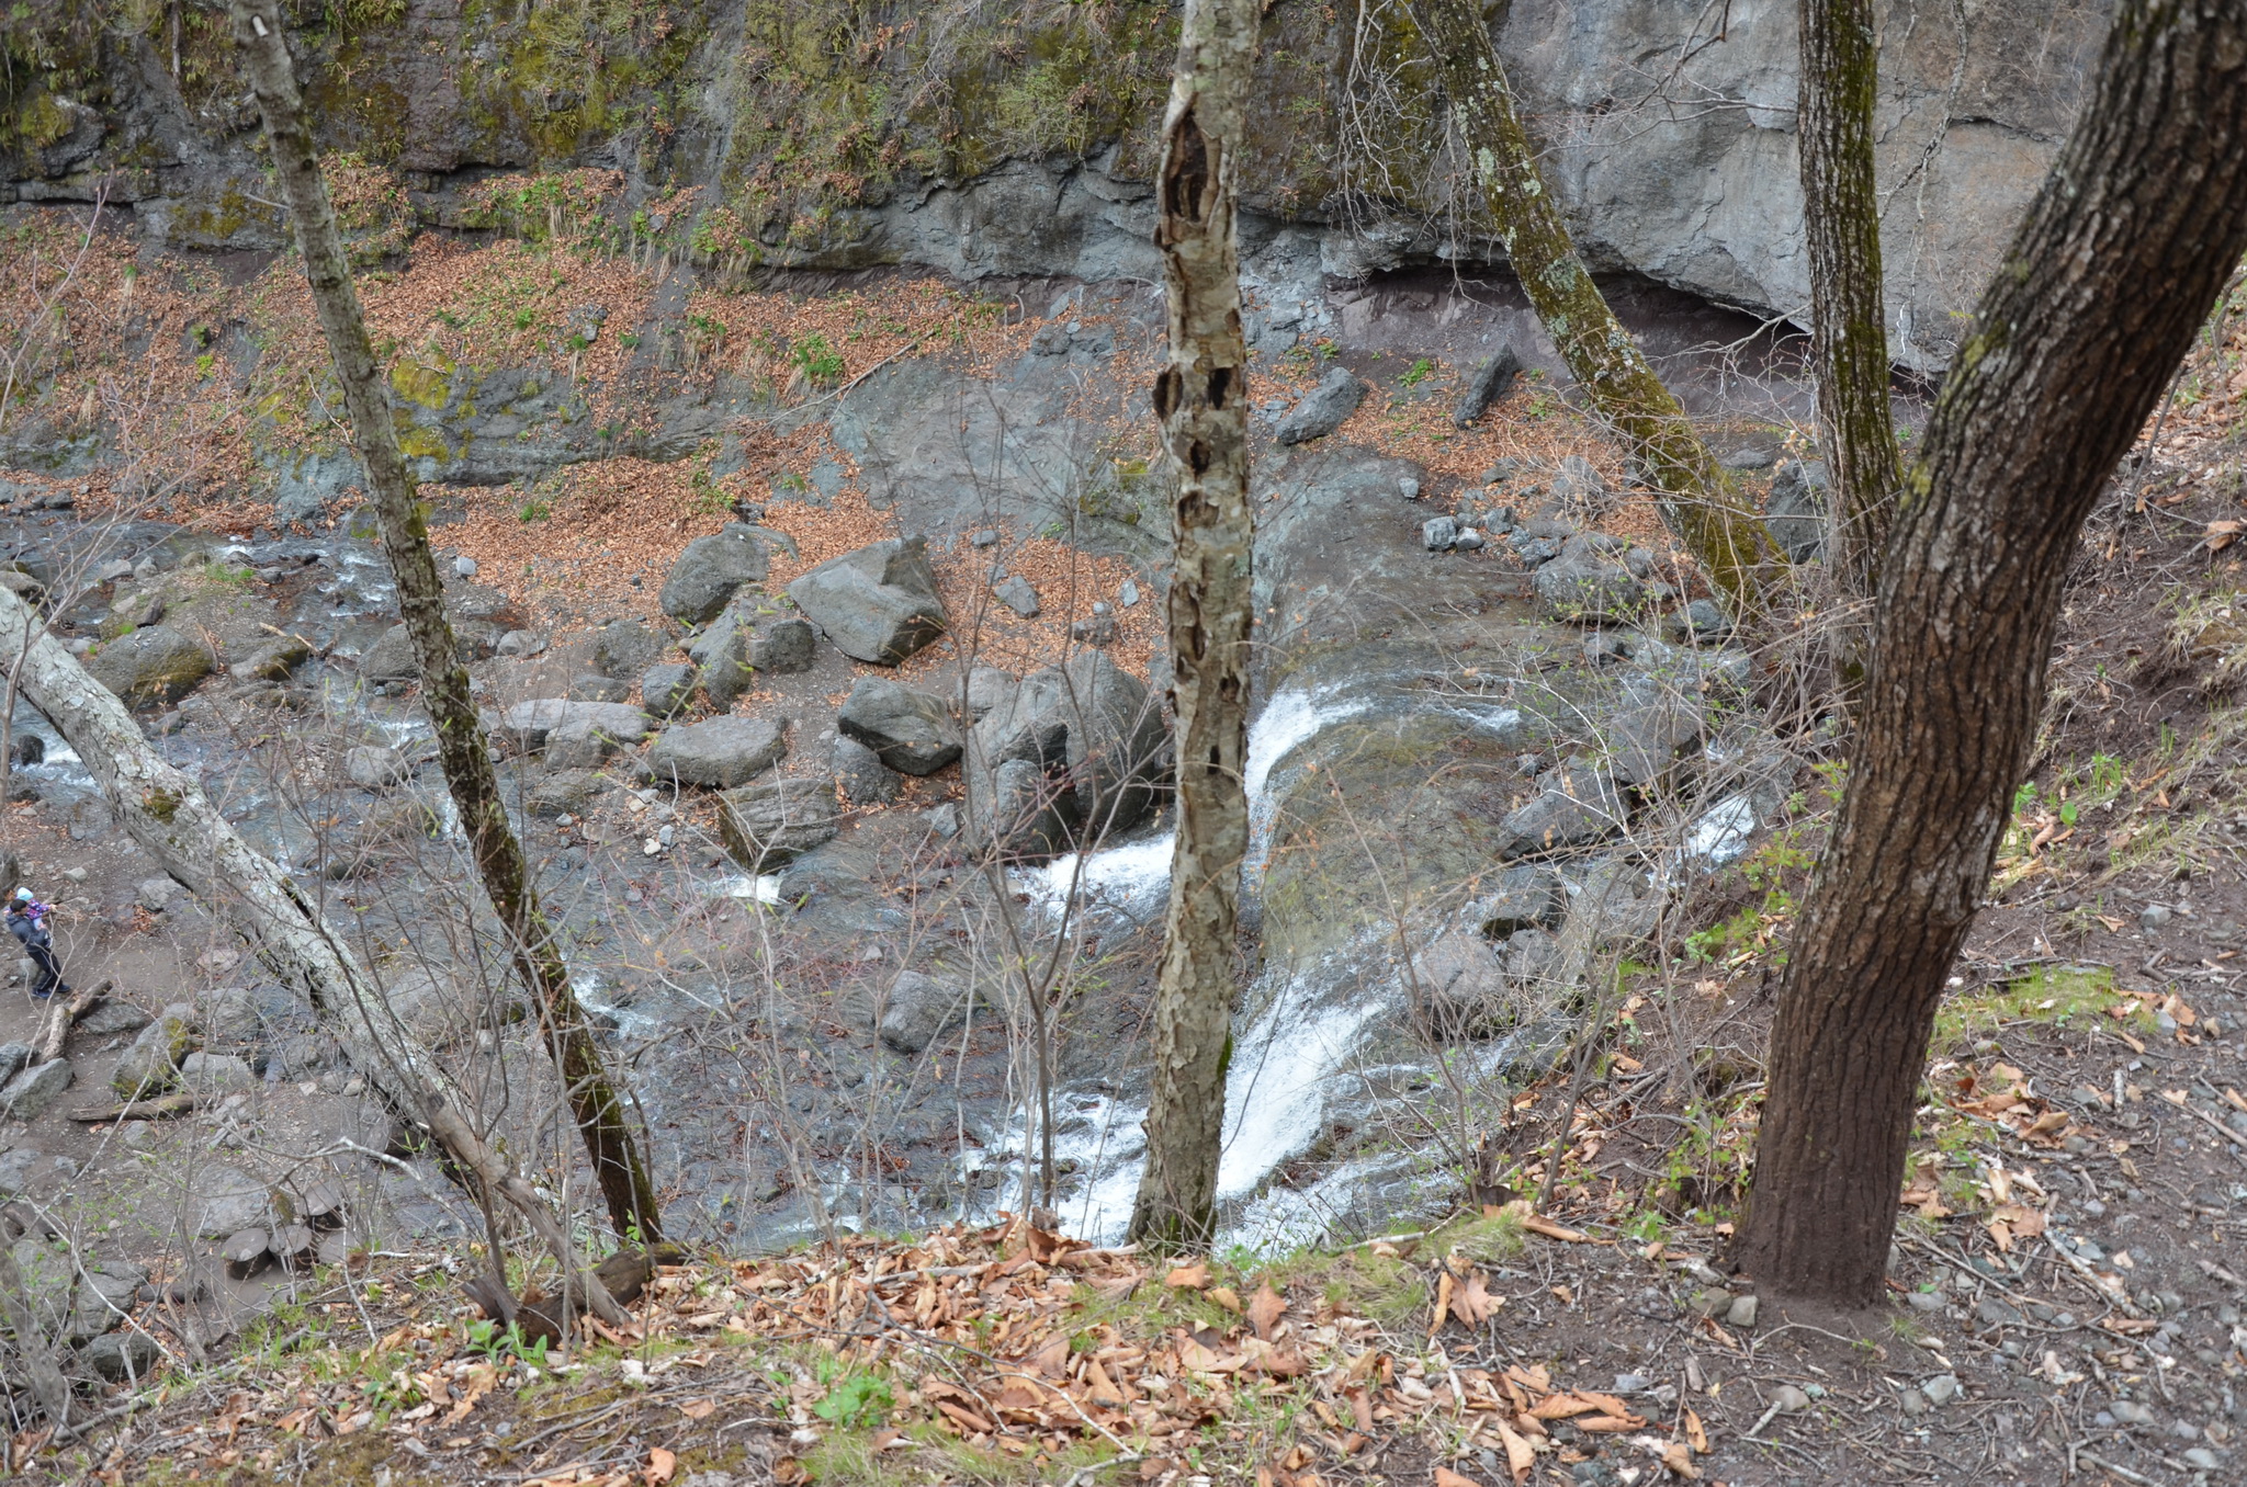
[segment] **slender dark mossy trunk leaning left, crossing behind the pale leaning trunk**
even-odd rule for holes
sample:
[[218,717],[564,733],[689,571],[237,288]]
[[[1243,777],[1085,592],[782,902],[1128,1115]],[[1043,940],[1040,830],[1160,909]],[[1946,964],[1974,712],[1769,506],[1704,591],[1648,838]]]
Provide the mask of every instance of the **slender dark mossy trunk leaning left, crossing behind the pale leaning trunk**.
[[335,355],[337,380],[344,384],[353,443],[360,447],[360,458],[366,460],[366,485],[375,521],[382,528],[382,550],[389,557],[391,577],[398,582],[398,609],[420,665],[422,705],[436,726],[445,784],[452,786],[452,802],[461,811],[461,827],[467,831],[476,872],[483,876],[483,892],[490,894],[492,907],[512,939],[515,966],[535,993],[542,1027],[555,1051],[555,1062],[562,1067],[571,1112],[577,1116],[577,1130],[593,1159],[593,1177],[609,1202],[609,1220],[618,1235],[629,1235],[636,1229],[643,1244],[654,1244],[663,1238],[663,1217],[647,1182],[647,1164],[625,1116],[625,1103],[600,1065],[600,1049],[593,1047],[593,1033],[577,1006],[562,952],[539,912],[521,842],[515,840],[515,829],[508,824],[508,811],[499,797],[490,746],[483,737],[483,723],[476,719],[476,701],[467,690],[467,667],[461,665],[452,624],[445,620],[445,591],[436,575],[436,555],[429,550],[429,532],[413,501],[404,454],[398,449],[398,427],[391,422],[382,371],[360,317],[360,297],[351,285],[351,265],[335,229],[328,184],[312,153],[312,133],[303,121],[279,9],[274,0],[231,0],[231,11],[234,38],[243,49],[258,108],[265,112],[265,137],[272,142],[281,198],[290,207],[297,243],[303,249],[319,326]]

